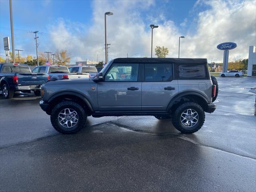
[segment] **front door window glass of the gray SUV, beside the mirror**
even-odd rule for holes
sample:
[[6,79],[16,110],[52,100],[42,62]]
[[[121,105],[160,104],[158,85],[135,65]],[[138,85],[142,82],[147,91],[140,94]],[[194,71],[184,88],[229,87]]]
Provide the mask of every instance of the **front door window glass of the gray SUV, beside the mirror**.
[[138,81],[139,64],[114,63],[105,75],[105,81]]

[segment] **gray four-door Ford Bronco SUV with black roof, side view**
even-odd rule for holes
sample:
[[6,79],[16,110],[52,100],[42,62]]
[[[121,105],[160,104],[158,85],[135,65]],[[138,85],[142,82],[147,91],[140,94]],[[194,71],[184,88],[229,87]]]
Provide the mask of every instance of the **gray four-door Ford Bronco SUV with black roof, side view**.
[[87,116],[172,119],[182,133],[198,131],[216,105],[207,59],[116,58],[94,79],[49,80],[40,106],[60,133],[81,130]]

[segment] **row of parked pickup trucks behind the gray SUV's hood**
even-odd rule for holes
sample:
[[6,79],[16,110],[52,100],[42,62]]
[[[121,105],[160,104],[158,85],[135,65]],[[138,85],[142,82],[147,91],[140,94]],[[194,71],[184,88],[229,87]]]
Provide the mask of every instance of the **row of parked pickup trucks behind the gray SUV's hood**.
[[70,70],[67,66],[51,65],[37,66],[31,72],[27,64],[0,64],[0,90],[4,98],[12,98],[16,91],[33,91],[40,96],[40,87],[48,80],[88,79],[95,78],[97,74],[93,66],[74,66]]

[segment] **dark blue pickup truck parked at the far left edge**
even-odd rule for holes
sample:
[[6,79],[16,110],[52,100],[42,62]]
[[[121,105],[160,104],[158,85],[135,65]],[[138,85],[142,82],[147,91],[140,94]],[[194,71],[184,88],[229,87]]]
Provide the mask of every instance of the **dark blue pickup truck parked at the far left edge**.
[[49,76],[46,74],[32,74],[27,64],[0,64],[0,90],[4,98],[12,98],[15,91],[34,91],[36,96],[40,96],[40,87]]

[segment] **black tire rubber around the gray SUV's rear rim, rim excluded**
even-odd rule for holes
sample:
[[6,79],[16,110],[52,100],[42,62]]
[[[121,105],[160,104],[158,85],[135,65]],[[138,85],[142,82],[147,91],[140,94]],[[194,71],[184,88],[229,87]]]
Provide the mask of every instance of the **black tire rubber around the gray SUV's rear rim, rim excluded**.
[[[182,125],[182,122],[180,120],[180,116],[181,116],[182,112],[184,112],[184,110],[186,110],[186,109],[195,110],[199,116],[198,122],[193,127],[190,127],[190,128]],[[172,124],[178,131],[180,131],[182,133],[194,133],[194,132],[197,132],[198,130],[200,130],[200,128],[204,124],[204,120],[205,120],[205,114],[204,114],[203,108],[197,103],[186,102],[186,103],[183,103],[180,106],[178,106],[178,108],[174,112],[174,115],[172,117]]]

